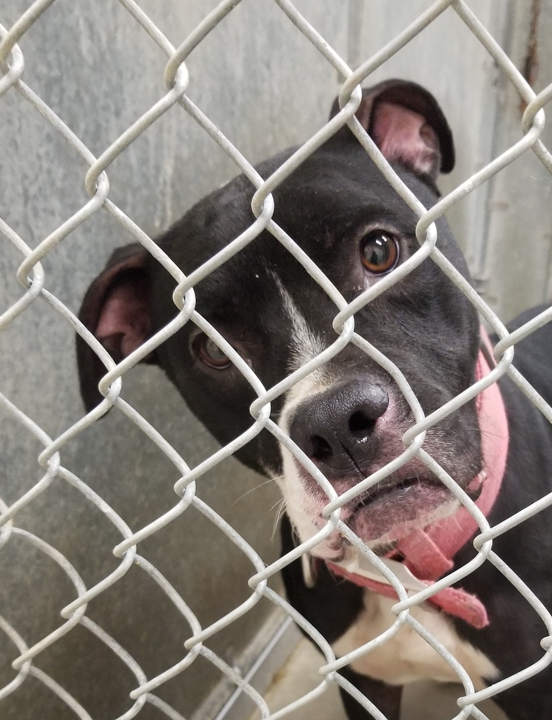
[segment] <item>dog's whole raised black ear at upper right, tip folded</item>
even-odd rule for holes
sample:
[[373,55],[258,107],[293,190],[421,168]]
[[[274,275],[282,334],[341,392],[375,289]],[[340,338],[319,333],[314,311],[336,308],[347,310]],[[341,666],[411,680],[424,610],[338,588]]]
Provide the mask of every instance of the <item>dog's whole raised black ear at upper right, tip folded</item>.
[[[335,100],[330,117],[338,111]],[[365,88],[356,117],[387,160],[432,180],[453,169],[451,129],[433,95],[420,85],[386,80]]]

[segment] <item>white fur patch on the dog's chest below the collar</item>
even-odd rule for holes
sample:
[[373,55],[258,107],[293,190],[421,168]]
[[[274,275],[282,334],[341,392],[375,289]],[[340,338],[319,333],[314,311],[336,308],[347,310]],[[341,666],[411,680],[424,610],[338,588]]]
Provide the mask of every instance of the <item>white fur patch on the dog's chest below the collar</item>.
[[[396,620],[391,611],[395,603],[396,600],[365,590],[364,609],[356,623],[333,644],[335,654],[343,656],[389,629]],[[410,612],[461,663],[476,690],[485,687],[483,678],[497,677],[499,672],[489,658],[458,636],[445,613],[427,606],[427,603],[412,608]],[[442,683],[459,680],[451,665],[410,625],[402,626],[391,639],[352,662],[350,667],[361,675],[383,680],[389,685],[405,685],[416,680]]]

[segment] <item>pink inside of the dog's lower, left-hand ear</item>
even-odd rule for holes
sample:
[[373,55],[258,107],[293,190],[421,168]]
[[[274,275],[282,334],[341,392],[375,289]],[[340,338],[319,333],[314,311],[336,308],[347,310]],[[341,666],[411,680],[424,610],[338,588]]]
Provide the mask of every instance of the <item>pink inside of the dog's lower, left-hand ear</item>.
[[135,282],[121,282],[101,308],[94,334],[111,354],[126,357],[150,336],[148,300],[137,289]]

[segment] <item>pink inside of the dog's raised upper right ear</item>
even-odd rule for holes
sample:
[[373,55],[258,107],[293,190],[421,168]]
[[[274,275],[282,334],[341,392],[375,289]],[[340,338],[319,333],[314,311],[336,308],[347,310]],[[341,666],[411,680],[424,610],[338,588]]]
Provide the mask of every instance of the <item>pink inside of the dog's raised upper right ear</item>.
[[423,115],[395,104],[377,104],[371,135],[387,160],[405,163],[419,173],[437,176],[439,143]]

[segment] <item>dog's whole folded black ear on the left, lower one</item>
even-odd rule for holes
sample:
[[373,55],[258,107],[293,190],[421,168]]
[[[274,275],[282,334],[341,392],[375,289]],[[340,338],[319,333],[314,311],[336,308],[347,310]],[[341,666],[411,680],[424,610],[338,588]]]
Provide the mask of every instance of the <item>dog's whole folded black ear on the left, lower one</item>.
[[[139,243],[118,248],[86,292],[78,318],[98,338],[115,362],[151,335],[148,252]],[[76,339],[81,395],[89,412],[103,400],[98,383],[107,370],[81,338]],[[148,356],[148,362],[155,362]]]

